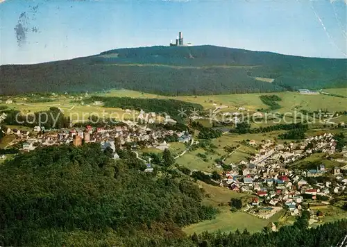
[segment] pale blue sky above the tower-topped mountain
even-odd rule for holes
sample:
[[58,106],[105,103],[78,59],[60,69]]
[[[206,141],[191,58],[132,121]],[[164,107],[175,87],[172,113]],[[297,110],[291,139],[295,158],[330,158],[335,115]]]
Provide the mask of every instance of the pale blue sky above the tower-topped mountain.
[[347,58],[347,0],[0,0],[0,65],[185,42]]

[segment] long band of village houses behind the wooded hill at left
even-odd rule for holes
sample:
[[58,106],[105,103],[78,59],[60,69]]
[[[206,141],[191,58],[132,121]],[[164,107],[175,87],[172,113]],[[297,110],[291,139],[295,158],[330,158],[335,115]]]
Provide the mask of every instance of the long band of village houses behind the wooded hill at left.
[[[3,130],[4,131],[4,130]],[[115,151],[115,139],[117,144],[124,146],[131,145],[137,148],[138,145],[146,148],[158,148],[164,150],[169,148],[165,141],[167,137],[175,137],[177,142],[190,142],[192,135],[186,131],[175,131],[166,129],[151,129],[146,125],[139,125],[134,121],[124,121],[119,126],[93,128],[66,128],[60,130],[45,130],[44,127],[35,126],[33,132],[20,131],[8,128],[4,131],[7,135],[15,135],[15,142],[22,143],[23,151],[32,151],[37,146],[53,146],[60,144],[74,144],[80,146],[83,142],[96,142],[105,149],[110,146]]]

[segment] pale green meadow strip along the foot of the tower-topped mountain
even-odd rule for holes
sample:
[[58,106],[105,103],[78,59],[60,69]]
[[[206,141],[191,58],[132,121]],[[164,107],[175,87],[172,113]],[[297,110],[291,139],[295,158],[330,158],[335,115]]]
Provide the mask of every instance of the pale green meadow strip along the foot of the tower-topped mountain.
[[[346,94],[347,89],[332,89],[325,90],[326,92]],[[246,110],[255,111],[257,109],[266,109],[267,105],[264,105],[260,100],[260,95],[271,95],[276,94],[280,96],[282,101],[278,103],[282,106],[277,112],[291,112],[295,109],[298,110],[318,110],[318,109],[328,109],[330,111],[343,111],[347,110],[347,98],[339,98],[327,95],[305,95],[298,94],[296,92],[279,92],[279,93],[269,93],[269,94],[224,94],[224,95],[207,95],[207,96],[159,96],[156,94],[146,94],[142,92],[136,92],[131,90],[110,90],[109,92],[103,93],[93,93],[90,95],[99,96],[128,96],[132,98],[142,98],[142,99],[177,99],[181,101],[187,101],[192,103],[199,103],[203,105],[203,108],[215,109],[219,105],[227,106],[222,111],[235,111],[239,107],[244,107]],[[86,99],[86,96],[81,96],[78,99]],[[39,97],[38,97],[39,98]],[[124,114],[124,110],[117,108],[103,108],[99,105],[81,105],[81,103],[72,103],[70,96],[50,96],[52,102],[45,103],[28,103],[24,97],[12,97],[16,103],[8,104],[9,108],[15,108],[24,113],[26,112],[37,112],[41,110],[48,110],[51,106],[60,107],[65,111],[65,114],[71,114],[71,119],[74,121],[85,120],[91,114],[105,114],[105,117],[116,117]],[[4,104],[2,104],[4,105]],[[132,116],[130,116],[131,118]],[[336,121],[346,121],[344,119],[337,119]]]

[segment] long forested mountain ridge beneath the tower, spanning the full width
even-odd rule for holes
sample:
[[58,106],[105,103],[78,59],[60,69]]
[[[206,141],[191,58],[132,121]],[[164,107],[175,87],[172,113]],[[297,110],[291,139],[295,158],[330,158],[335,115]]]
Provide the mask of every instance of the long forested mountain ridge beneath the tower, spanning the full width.
[[189,95],[346,87],[346,67],[346,59],[219,46],[152,46],[37,65],[3,65],[0,94],[125,88]]

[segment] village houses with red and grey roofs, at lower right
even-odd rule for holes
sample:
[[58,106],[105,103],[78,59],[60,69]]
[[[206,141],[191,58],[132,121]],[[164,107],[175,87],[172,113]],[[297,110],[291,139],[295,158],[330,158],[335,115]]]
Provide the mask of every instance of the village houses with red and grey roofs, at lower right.
[[[270,140],[262,142],[260,152],[250,162],[230,164],[230,171],[223,173],[220,185],[232,191],[246,192],[255,195],[250,205],[268,205],[287,207],[291,214],[298,214],[304,200],[315,200],[324,196],[331,198],[334,194],[347,191],[347,179],[344,178],[345,167],[325,169],[321,164],[316,169],[291,171],[289,162],[303,159],[312,152],[335,152],[335,140],[332,134],[324,134],[305,139],[298,144],[275,145]],[[347,148],[342,151],[347,157]],[[310,178],[330,176],[330,180],[312,184]],[[310,182],[308,182],[310,181]],[[267,208],[267,207],[266,207]]]

